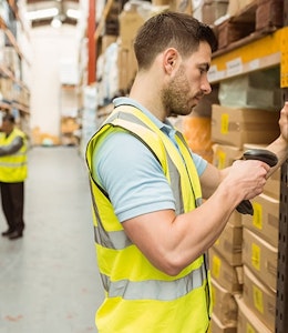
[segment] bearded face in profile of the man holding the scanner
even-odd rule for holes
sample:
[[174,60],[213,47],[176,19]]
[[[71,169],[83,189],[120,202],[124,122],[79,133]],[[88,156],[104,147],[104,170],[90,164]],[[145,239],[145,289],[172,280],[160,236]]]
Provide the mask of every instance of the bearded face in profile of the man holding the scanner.
[[209,44],[202,42],[196,52],[183,60],[176,74],[162,93],[162,101],[168,115],[189,114],[204,94],[210,93],[212,89],[207,80],[210,57]]

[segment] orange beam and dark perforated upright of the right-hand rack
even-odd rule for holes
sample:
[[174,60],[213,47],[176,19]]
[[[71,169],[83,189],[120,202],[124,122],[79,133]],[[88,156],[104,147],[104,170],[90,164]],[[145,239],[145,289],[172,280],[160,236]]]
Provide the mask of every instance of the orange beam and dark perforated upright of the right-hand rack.
[[[288,101],[288,1],[285,1],[285,27],[266,34],[249,36],[228,49],[214,53],[209,81],[222,80],[280,67],[280,87]],[[275,332],[286,333],[288,327],[288,160],[281,167],[279,205],[279,245]]]

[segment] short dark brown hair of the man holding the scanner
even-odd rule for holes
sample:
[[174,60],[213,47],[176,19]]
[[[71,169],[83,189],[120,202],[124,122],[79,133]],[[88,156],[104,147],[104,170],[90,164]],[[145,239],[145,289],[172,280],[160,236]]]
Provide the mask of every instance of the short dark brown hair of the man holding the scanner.
[[134,51],[140,69],[147,69],[166,48],[175,48],[185,57],[197,51],[206,41],[212,51],[217,49],[213,30],[189,14],[164,11],[150,18],[138,30]]

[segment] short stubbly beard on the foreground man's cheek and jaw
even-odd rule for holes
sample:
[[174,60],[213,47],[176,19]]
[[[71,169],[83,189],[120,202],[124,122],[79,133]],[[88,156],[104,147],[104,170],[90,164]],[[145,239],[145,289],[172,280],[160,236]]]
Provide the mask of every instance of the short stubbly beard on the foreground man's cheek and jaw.
[[191,87],[184,67],[178,69],[168,87],[163,89],[162,103],[167,112],[167,117],[187,115],[197,104],[197,102],[191,98]]

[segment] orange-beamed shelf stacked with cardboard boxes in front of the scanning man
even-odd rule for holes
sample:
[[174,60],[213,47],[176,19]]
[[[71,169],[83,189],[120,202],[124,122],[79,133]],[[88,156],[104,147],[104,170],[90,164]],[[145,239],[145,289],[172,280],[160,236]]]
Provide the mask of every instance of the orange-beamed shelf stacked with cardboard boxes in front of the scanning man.
[[[246,7],[241,12],[267,14],[269,19],[264,21],[267,23],[275,19],[271,6],[276,2],[280,8],[280,1],[253,1],[249,10]],[[258,31],[251,30],[249,36],[229,41],[213,54],[209,80],[219,91],[219,103],[212,107],[213,163],[219,169],[230,165],[246,149],[266,147],[279,133],[279,110],[284,89],[288,87],[288,28],[284,22],[279,26],[269,23]],[[235,304],[232,303],[225,317],[219,317],[217,309],[227,304],[218,304],[212,331],[218,332],[220,323],[229,332],[284,333],[288,291],[287,162],[251,203],[255,214],[235,212],[210,251],[214,294],[217,297],[218,285],[225,285],[238,306],[235,324],[228,321]],[[222,302],[219,295],[218,301]]]

